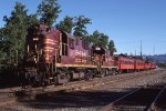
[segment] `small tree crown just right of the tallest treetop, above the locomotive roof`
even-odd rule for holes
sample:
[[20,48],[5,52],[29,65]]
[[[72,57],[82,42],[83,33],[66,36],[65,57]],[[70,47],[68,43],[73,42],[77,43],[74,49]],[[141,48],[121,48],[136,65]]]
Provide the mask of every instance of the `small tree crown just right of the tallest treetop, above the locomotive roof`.
[[66,31],[68,33],[72,32],[72,29],[74,27],[73,18],[65,17],[63,21],[60,21],[60,23],[56,24],[56,28],[63,31]]

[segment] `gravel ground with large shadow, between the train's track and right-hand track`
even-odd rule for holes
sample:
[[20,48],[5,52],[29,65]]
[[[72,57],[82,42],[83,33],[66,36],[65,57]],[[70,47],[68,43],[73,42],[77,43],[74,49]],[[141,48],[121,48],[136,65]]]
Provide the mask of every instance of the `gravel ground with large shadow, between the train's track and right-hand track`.
[[[144,73],[152,74],[142,77]],[[108,75],[92,81],[104,83],[104,81],[113,81],[117,78],[122,79],[134,74],[137,78],[127,81],[107,82],[84,90],[39,94],[32,100],[18,100],[15,103],[1,105],[0,109],[1,111],[100,111],[101,108],[123,97],[133,89],[165,82],[166,79],[166,70],[157,69],[155,71]]]

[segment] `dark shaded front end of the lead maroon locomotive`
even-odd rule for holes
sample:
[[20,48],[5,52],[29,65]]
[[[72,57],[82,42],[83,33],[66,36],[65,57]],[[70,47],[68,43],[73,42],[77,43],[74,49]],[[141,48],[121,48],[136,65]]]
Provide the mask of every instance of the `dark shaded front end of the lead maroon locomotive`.
[[39,62],[41,54],[44,54],[44,34],[50,31],[50,28],[42,24],[35,24],[28,29],[25,44],[25,61]]

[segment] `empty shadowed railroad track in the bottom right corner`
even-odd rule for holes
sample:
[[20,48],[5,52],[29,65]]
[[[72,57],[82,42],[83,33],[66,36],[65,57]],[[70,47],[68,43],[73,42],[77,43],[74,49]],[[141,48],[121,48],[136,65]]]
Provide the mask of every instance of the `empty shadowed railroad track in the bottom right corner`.
[[166,109],[166,84],[135,89],[103,107],[102,111],[163,111]]

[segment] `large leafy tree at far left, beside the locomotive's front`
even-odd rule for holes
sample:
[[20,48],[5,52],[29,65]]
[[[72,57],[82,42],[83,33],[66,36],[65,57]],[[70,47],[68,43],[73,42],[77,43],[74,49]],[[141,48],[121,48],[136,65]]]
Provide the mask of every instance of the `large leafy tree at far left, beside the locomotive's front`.
[[28,16],[27,12],[25,6],[15,2],[11,17],[3,17],[6,24],[0,31],[0,51],[2,53],[0,58],[4,59],[7,64],[15,61],[17,53],[19,59],[23,58],[27,29],[38,21],[37,16]]

